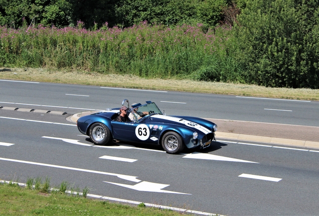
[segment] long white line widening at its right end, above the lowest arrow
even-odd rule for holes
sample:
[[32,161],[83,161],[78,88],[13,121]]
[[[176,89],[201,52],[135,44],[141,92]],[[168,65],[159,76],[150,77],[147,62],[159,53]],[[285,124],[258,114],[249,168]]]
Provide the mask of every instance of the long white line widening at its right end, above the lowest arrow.
[[54,168],[70,169],[70,170],[75,170],[75,171],[91,172],[91,173],[97,173],[97,174],[113,175],[113,176],[117,176],[117,177],[125,179],[125,180],[133,181],[133,182],[141,181],[141,180],[136,179],[137,176],[117,174],[117,173],[112,173],[112,172],[103,172],[103,171],[96,171],[96,170],[90,170],[90,169],[82,169],[82,168],[75,168],[75,167],[69,167],[69,166],[53,165],[53,164],[48,164],[48,163],[39,163],[39,162],[17,160],[17,159],[3,158],[3,157],[0,157],[0,160],[27,163],[27,164],[33,164],[33,165],[48,166],[48,167],[54,167]]

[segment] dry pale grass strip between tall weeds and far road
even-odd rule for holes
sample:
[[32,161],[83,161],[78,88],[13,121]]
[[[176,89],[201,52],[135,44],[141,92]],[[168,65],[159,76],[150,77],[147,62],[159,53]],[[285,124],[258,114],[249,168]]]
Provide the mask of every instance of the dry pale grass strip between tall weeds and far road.
[[0,68],[0,79],[319,100],[319,89],[271,88],[258,85],[194,81],[188,79],[145,79],[134,75],[101,74],[61,69]]

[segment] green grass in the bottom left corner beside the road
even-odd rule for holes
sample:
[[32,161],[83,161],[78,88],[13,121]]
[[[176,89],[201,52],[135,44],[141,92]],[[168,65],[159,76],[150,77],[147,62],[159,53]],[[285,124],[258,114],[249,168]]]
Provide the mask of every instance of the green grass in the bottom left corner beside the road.
[[[30,181],[29,181],[30,183]],[[48,179],[44,184],[48,183]],[[62,184],[61,184],[62,185]],[[0,215],[181,215],[181,212],[0,183]]]

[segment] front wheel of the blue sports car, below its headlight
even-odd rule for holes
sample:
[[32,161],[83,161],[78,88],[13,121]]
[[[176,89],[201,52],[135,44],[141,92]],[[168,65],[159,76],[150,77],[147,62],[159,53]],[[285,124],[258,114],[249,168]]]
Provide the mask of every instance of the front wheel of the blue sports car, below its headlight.
[[167,153],[178,153],[184,149],[184,144],[178,133],[170,131],[163,135],[162,147]]

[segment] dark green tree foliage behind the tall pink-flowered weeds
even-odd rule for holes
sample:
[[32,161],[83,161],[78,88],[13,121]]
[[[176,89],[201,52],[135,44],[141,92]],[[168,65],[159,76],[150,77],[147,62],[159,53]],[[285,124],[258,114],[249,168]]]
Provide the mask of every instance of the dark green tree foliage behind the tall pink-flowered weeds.
[[166,25],[201,22],[215,26],[227,0],[0,0],[0,25],[27,23],[87,28],[132,26],[141,21]]

